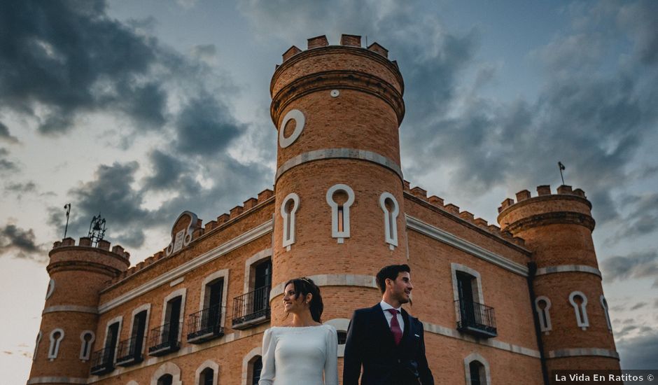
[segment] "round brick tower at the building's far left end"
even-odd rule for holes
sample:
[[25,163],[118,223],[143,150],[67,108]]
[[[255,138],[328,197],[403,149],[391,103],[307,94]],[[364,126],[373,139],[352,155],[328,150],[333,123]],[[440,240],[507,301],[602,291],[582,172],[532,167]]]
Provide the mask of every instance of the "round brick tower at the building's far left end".
[[[130,255],[109,241],[92,247],[89,238],[55,242],[49,253],[46,293],[32,369],[27,384],[85,384],[97,336],[99,291],[124,272]],[[95,341],[95,342],[94,342]],[[95,347],[94,347],[95,346]],[[78,381],[78,382],[76,382]]]

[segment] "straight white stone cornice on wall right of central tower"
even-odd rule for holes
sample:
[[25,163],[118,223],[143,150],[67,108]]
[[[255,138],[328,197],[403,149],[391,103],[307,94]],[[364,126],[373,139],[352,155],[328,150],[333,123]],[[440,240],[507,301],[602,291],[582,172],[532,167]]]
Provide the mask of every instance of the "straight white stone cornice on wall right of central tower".
[[452,235],[449,232],[441,230],[440,228],[435,228],[433,225],[425,223],[418,218],[407,215],[407,228],[420,232],[422,235],[436,239],[437,241],[440,241],[449,246],[453,246],[454,248],[458,248],[459,250],[464,251],[465,253],[469,253],[470,255],[474,255],[477,258],[486,260],[486,262],[491,262],[493,265],[503,267],[503,269],[507,269],[510,272],[522,276],[528,276],[528,267],[509,260],[502,255],[498,255],[496,253],[492,253],[489,250],[485,250],[476,244],[472,244],[469,241],[461,239],[456,235]]

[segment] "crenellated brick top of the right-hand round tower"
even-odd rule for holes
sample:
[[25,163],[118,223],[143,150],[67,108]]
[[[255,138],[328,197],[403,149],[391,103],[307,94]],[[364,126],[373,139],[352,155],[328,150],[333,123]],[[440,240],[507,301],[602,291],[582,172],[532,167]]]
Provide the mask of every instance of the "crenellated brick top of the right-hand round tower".
[[522,229],[548,224],[583,225],[594,230],[591,216],[591,202],[580,188],[559,186],[553,194],[550,186],[537,187],[537,195],[521,190],[516,200],[505,199],[498,207],[498,224],[503,232],[516,235]]

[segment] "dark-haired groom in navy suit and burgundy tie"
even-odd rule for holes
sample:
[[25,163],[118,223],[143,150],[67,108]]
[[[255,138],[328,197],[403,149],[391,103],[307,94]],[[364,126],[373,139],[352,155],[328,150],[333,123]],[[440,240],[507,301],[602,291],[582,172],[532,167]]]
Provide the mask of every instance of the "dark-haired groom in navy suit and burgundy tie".
[[414,288],[408,265],[377,273],[381,302],[354,311],[345,344],[343,385],[428,385],[434,377],[425,357],[423,324],[400,306]]

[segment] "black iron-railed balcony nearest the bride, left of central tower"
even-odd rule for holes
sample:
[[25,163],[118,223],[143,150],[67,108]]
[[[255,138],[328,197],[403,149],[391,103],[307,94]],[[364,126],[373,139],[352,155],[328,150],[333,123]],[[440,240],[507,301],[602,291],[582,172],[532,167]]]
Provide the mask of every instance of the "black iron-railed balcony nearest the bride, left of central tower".
[[237,330],[269,321],[269,289],[263,286],[233,298],[232,327]]

